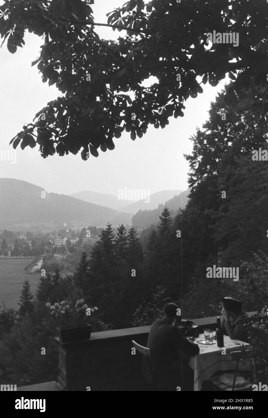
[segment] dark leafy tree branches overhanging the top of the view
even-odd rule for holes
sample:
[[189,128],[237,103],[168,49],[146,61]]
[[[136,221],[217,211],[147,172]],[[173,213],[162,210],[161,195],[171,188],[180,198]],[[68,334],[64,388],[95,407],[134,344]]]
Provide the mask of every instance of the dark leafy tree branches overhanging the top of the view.
[[[43,158],[58,153],[97,157],[115,148],[113,138],[130,132],[135,140],[148,124],[164,128],[169,117],[183,116],[184,102],[216,86],[225,74],[233,80],[228,103],[259,87],[252,110],[267,113],[267,8],[263,0],[130,0],[94,22],[86,1],[8,0],[0,7],[0,35],[14,54],[25,31],[42,37],[38,65],[43,82],[61,96],[41,109],[10,143],[39,145]],[[95,7],[95,6],[93,6]],[[97,7],[97,5],[96,5]],[[117,41],[94,31],[108,25],[126,31]],[[207,33],[239,33],[239,45],[207,44]],[[180,74],[180,77],[178,77]],[[155,76],[157,82],[142,82]]]

